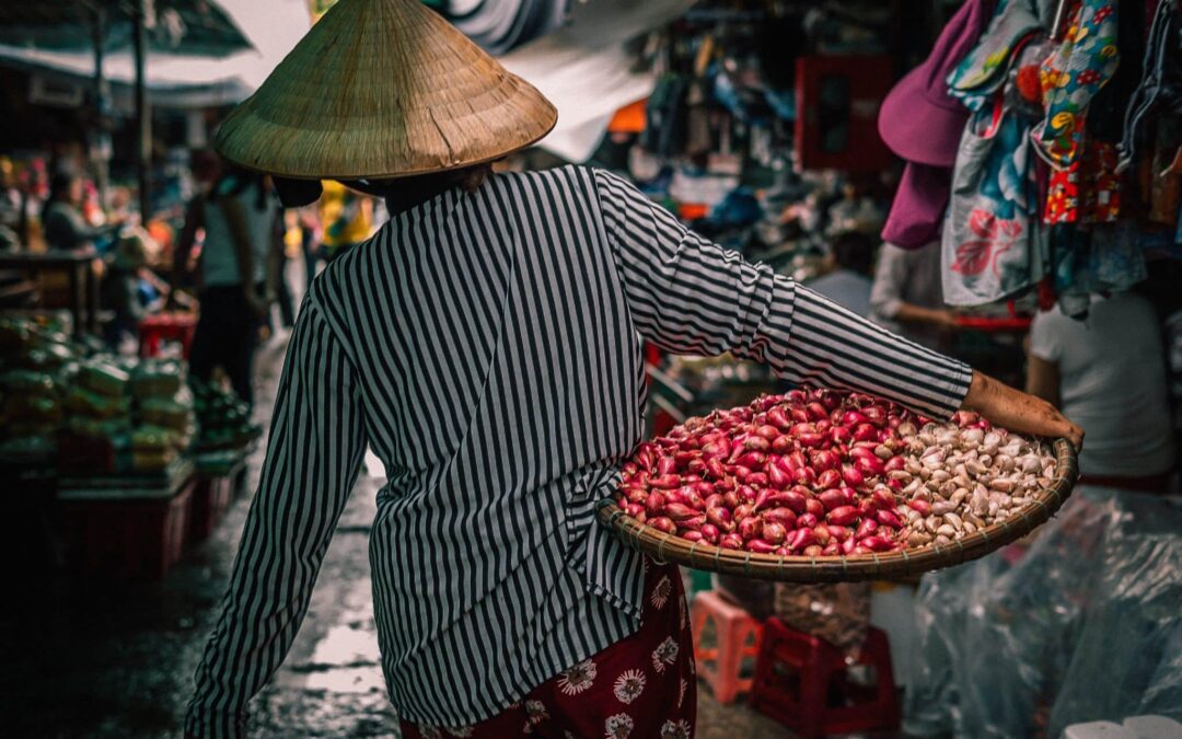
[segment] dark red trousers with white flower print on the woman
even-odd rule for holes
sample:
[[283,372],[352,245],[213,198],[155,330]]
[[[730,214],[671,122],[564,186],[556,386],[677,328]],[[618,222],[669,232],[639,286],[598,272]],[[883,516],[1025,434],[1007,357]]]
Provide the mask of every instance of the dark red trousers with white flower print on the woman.
[[688,739],[697,681],[681,572],[670,564],[645,564],[636,634],[573,662],[520,702],[470,726],[441,730],[402,721],[404,739]]

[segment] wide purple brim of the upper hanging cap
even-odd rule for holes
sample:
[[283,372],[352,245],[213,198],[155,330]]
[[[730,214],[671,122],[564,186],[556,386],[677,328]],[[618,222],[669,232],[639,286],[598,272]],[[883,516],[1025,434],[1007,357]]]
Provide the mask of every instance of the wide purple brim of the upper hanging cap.
[[968,111],[944,108],[924,95],[923,65],[895,85],[878,111],[878,135],[897,156],[930,167],[956,163]]

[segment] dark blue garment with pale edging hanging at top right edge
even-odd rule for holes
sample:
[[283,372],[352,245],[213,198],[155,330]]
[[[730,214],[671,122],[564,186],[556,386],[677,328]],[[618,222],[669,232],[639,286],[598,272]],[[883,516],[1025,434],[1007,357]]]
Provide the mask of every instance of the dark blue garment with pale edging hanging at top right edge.
[[1182,15],[1176,0],[1160,0],[1145,41],[1141,85],[1132,93],[1124,118],[1118,171],[1137,157],[1145,140],[1145,123],[1155,114],[1182,114]]

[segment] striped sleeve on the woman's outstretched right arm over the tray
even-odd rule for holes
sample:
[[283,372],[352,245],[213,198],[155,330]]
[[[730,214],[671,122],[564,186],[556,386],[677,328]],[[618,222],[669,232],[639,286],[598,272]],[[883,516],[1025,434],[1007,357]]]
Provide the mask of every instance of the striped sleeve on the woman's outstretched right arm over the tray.
[[972,370],[753,265],[596,170],[604,229],[641,335],[673,352],[727,351],[798,383],[872,393],[947,417]]

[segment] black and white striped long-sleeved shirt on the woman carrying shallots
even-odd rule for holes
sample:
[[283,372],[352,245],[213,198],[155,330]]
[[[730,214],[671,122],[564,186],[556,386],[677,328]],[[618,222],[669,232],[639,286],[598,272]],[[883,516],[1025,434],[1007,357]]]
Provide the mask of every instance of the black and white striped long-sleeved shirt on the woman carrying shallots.
[[498,175],[396,215],[292,333],[187,728],[235,735],[307,608],[366,445],[390,699],[461,726],[638,625],[639,557],[595,523],[641,441],[643,341],[947,416],[969,369],[687,231],[619,177]]

